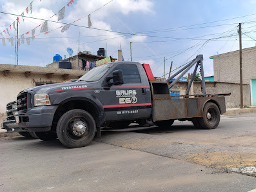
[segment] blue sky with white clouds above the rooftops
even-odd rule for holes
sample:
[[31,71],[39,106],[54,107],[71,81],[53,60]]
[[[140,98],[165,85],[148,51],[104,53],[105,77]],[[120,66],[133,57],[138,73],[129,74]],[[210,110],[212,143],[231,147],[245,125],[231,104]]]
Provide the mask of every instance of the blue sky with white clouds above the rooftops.
[[[239,23],[242,23],[242,48],[256,44],[256,0],[73,0],[68,6],[69,2],[34,0],[30,13],[31,0],[0,0],[0,12],[8,13],[0,13],[0,32],[3,34],[0,38],[5,37],[6,41],[3,46],[0,39],[0,63],[17,64],[17,39],[16,46],[12,46],[6,38],[20,38],[22,34],[25,38],[31,37],[34,28],[35,38],[30,38],[30,45],[25,39],[19,46],[19,65],[44,67],[53,61],[55,54],[68,57],[68,47],[74,54],[79,48],[93,54],[97,54],[99,48],[106,48],[108,56],[117,58],[119,45],[124,61],[130,61],[132,42],[132,61],[149,63],[155,77],[164,75],[164,57],[168,73],[172,61],[172,70],[175,70],[197,54],[204,55],[205,76],[214,75],[213,59],[209,57],[239,50]],[[64,18],[58,23],[58,12],[64,6]],[[17,28],[17,15],[23,12],[34,18],[24,17],[23,21],[19,16],[17,35],[10,25],[15,21]],[[87,27],[89,14],[91,28]],[[39,24],[44,20],[40,19],[49,20],[48,34],[41,33]],[[61,32],[59,27],[67,23],[77,26],[71,25]],[[10,35],[3,32],[6,28]]]

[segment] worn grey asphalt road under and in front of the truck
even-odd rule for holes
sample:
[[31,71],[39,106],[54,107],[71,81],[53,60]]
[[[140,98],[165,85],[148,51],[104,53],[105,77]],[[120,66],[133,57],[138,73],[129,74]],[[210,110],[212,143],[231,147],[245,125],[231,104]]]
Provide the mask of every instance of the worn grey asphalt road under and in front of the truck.
[[[215,130],[105,130],[85,148],[59,140],[0,139],[0,191],[250,191],[256,115],[222,116]],[[248,176],[250,175],[250,176]]]

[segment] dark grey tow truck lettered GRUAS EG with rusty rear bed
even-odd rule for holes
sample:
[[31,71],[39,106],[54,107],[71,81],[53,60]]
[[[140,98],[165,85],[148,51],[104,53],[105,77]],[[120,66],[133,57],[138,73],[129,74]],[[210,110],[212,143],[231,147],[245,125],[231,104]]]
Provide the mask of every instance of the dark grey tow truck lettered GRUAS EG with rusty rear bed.
[[[195,64],[193,75],[201,67],[202,94],[188,95],[190,81],[186,95],[172,99],[170,88]],[[202,55],[166,82],[155,81],[149,64],[110,62],[75,82],[21,91],[15,120],[5,120],[3,128],[34,132],[41,140],[58,138],[69,148],[86,146],[95,133],[101,137],[101,127],[122,127],[131,122],[170,127],[175,119],[190,120],[198,128],[214,129],[219,125],[220,114],[226,111],[226,94],[206,94],[202,72]],[[170,84],[170,79],[179,73]]]

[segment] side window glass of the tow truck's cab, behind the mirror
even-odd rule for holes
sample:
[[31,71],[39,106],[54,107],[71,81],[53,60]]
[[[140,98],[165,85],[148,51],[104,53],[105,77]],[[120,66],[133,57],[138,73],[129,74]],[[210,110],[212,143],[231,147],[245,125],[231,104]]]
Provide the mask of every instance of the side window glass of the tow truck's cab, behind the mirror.
[[122,70],[124,83],[141,82],[141,77],[135,64],[119,64],[113,69],[113,71],[115,70]]

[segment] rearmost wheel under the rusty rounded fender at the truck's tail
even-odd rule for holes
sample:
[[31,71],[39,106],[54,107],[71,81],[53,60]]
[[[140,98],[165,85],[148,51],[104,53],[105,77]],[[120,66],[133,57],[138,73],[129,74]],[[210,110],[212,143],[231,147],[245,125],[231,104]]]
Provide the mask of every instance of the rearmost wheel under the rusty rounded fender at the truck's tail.
[[217,128],[221,120],[219,108],[213,102],[207,102],[202,111],[202,117],[199,117],[198,123],[202,129],[212,130]]

